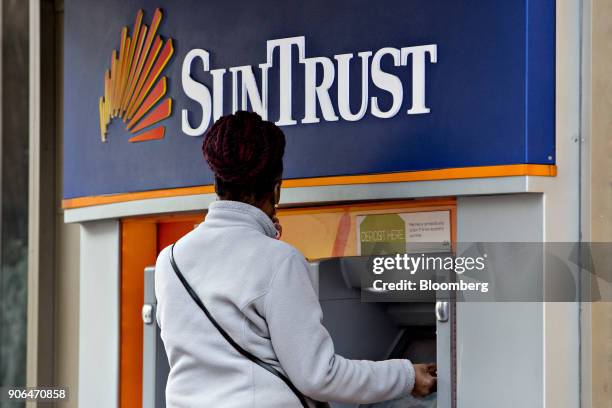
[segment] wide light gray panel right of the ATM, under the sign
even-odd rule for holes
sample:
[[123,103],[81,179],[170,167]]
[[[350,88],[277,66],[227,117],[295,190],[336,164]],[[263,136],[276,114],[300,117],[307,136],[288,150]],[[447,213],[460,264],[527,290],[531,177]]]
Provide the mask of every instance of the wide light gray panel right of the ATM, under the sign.
[[[459,197],[457,241],[543,242],[544,195]],[[543,406],[544,303],[460,302],[457,322],[459,407]]]

